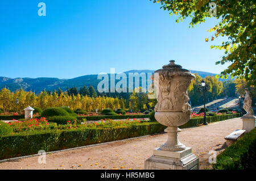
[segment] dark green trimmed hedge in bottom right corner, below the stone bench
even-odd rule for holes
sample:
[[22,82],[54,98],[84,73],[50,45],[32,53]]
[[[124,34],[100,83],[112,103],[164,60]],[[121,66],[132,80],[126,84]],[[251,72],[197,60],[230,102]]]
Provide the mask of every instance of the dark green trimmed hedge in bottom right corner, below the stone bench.
[[215,170],[256,169],[256,129],[235,141],[217,156]]

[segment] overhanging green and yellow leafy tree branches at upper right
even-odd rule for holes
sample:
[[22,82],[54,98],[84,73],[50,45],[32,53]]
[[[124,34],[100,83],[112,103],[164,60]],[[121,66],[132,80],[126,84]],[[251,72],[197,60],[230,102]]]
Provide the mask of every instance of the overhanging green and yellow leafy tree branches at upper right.
[[[151,1],[151,0],[150,0]],[[176,22],[188,16],[192,17],[190,25],[205,22],[210,17],[210,0],[158,0],[162,9],[170,11],[170,15],[180,15]],[[225,49],[225,54],[216,64],[232,62],[228,69],[221,72],[221,78],[238,76],[245,78],[250,85],[256,85],[255,63],[255,2],[253,0],[215,0],[217,6],[216,18],[220,22],[211,28],[215,32],[212,41],[218,36],[228,37],[221,45],[212,45],[210,48]],[[208,41],[208,39],[206,39]]]

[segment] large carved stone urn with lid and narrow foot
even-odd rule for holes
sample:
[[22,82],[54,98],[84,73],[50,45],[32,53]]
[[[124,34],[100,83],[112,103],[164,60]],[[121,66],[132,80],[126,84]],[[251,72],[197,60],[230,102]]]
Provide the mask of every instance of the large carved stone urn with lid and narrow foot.
[[176,65],[174,60],[164,65],[163,69],[156,70],[152,79],[158,90],[158,103],[155,106],[155,119],[168,128],[167,141],[160,146],[160,150],[182,151],[185,145],[177,139],[177,133],[181,130],[180,125],[187,123],[191,117],[191,106],[189,105],[188,87],[195,75],[189,70],[182,69]]

